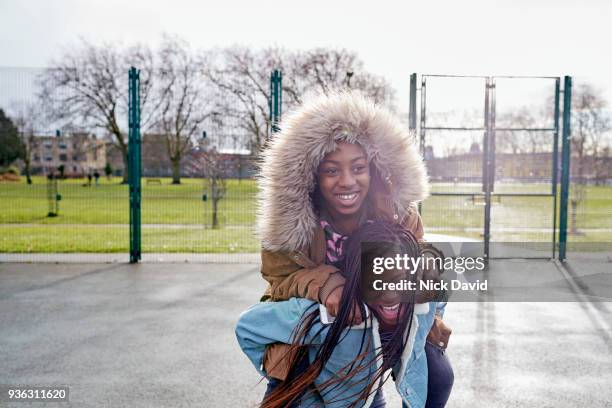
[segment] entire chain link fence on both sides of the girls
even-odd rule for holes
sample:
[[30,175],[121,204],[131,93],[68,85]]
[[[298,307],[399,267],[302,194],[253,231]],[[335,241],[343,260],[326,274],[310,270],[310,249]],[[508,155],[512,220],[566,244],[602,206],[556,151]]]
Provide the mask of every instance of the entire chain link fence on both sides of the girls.
[[[125,74],[127,91],[127,69]],[[263,95],[241,100],[230,91],[240,79],[224,75],[203,85],[200,108],[206,114],[190,123],[187,137],[173,135],[162,121],[142,130],[143,260],[256,259],[253,177],[255,153],[270,135],[269,101]],[[0,68],[0,109],[29,157],[0,176],[0,253],[22,261],[126,261],[125,150],[108,129],[62,120],[57,95],[45,97],[45,90],[61,88],[54,80],[45,69]],[[492,242],[549,242],[542,253],[550,256],[559,216],[553,162],[559,168],[561,150],[555,79],[495,79],[494,188],[486,221],[483,134],[493,113],[490,101],[485,112],[490,85],[486,77],[419,82],[417,133],[434,193],[421,206],[426,232],[481,241],[489,222]],[[69,90],[62,92],[70,97]],[[594,81],[575,78],[570,258],[608,256],[612,242],[607,102]],[[249,116],[249,103],[261,106],[257,116]],[[127,126],[124,110],[120,127]]]

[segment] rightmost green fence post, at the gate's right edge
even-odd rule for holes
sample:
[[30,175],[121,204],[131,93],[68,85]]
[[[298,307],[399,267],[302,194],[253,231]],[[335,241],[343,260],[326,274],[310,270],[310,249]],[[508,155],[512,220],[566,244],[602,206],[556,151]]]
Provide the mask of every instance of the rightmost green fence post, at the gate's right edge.
[[559,213],[559,260],[565,261],[567,246],[567,203],[570,182],[570,136],[572,117],[572,77],[563,82],[563,140],[561,145],[561,203]]

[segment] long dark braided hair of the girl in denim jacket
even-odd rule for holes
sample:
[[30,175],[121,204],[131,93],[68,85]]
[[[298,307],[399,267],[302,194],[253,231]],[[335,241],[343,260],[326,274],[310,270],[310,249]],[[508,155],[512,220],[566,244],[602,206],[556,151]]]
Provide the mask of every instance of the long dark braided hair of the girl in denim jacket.
[[[368,242],[367,252],[362,254],[362,242]],[[389,245],[391,244],[391,245]],[[374,350],[369,333],[368,325],[370,322],[364,318],[364,330],[361,338],[359,350],[355,353],[355,358],[340,372],[340,375],[331,378],[323,384],[314,385],[315,379],[320,375],[325,364],[332,356],[335,347],[342,342],[344,336],[348,334],[347,328],[353,319],[353,308],[358,308],[361,316],[366,316],[366,306],[362,295],[361,282],[361,261],[368,263],[374,257],[389,256],[389,249],[392,248],[396,254],[407,254],[410,257],[420,255],[419,245],[412,233],[396,223],[388,221],[369,221],[363,224],[358,230],[354,231],[346,242],[345,262],[341,273],[346,278],[346,283],[342,291],[340,308],[338,315],[330,326],[321,325],[319,330],[315,326],[320,323],[319,309],[317,304],[307,309],[302,316],[302,320],[293,333],[293,341],[290,345],[289,374],[287,378],[277,386],[263,401],[263,408],[287,407],[301,397],[310,392],[318,392],[322,397],[332,390],[350,389],[351,393],[344,393],[342,400],[346,400],[347,407],[359,405],[360,401],[365,401],[370,394],[377,391],[376,384],[384,383],[389,376],[383,378],[388,369],[395,366],[401,359],[402,351],[406,346],[407,339],[412,326],[414,314],[414,293],[409,295],[408,301],[400,303],[396,324],[388,334],[387,341],[380,349]],[[368,266],[368,265],[366,265]],[[371,265],[370,265],[371,266]],[[415,281],[417,274],[409,274],[406,279]],[[376,310],[372,309],[376,315]],[[305,371],[298,369],[298,362],[302,358],[307,358],[308,341],[307,339],[319,336],[326,329],[327,334],[323,343],[320,345],[314,360]],[[374,354],[374,357],[372,357]],[[378,367],[380,366],[380,367]],[[358,376],[358,374],[362,374]],[[365,378],[363,374],[372,373]],[[381,385],[382,385],[381,383]],[[359,387],[356,387],[359,385]],[[354,390],[358,389],[357,392]],[[349,395],[347,395],[349,394]],[[329,394],[328,394],[329,395]],[[350,402],[349,402],[350,401]],[[333,402],[338,402],[334,400]]]

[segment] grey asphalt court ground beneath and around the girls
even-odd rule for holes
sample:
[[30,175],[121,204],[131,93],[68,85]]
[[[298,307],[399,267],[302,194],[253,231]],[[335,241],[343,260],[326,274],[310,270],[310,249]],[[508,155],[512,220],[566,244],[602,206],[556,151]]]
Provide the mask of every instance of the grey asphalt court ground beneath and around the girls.
[[[580,267],[523,262],[559,279]],[[447,306],[449,407],[609,406],[612,303],[568,282],[573,302]],[[70,387],[69,403],[0,405],[254,407],[265,383],[233,329],[264,289],[252,263],[0,264],[0,384]]]

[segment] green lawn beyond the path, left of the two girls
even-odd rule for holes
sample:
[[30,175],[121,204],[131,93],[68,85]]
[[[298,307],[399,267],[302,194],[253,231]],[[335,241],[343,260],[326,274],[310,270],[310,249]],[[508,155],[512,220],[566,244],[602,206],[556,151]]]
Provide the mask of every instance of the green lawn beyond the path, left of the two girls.
[[[101,179],[102,180],[102,179]],[[0,224],[126,224],[129,222],[127,185],[104,179],[100,186],[84,187],[83,180],[60,181],[59,217],[47,217],[46,179],[35,177],[32,185],[0,182]],[[183,179],[172,185],[142,182],[143,224],[210,225],[212,201],[202,200],[206,192],[202,180]],[[256,192],[253,180],[229,180],[228,192],[219,203],[225,225],[252,225],[252,204]]]

